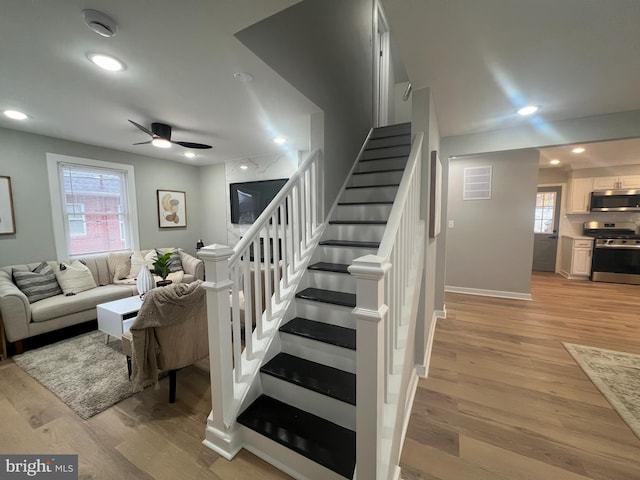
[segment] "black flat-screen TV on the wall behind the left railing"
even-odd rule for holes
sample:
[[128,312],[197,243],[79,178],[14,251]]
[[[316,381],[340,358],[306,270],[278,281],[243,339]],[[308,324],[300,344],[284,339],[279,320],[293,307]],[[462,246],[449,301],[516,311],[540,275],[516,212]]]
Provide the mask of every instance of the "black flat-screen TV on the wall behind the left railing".
[[288,178],[231,183],[231,223],[253,223],[287,183]]

